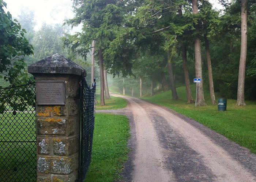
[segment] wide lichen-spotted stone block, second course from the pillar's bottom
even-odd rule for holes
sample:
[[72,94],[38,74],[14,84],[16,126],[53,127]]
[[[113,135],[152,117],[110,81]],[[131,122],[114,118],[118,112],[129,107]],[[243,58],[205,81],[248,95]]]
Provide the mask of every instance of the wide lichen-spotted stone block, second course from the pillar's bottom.
[[70,174],[78,170],[78,154],[71,157],[38,156],[37,171],[44,174]]

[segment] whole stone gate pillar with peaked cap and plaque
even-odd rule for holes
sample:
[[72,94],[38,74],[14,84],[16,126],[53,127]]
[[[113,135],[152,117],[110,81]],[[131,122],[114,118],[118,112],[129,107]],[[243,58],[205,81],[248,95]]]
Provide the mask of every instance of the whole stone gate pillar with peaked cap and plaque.
[[60,54],[28,70],[36,81],[37,181],[74,182],[79,164],[79,82],[86,71]]

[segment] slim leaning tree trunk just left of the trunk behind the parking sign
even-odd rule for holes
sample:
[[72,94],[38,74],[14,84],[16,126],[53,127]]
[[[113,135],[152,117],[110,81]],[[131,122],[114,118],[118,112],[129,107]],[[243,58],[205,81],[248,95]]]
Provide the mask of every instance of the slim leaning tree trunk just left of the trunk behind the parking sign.
[[[182,16],[182,6],[179,6],[178,14]],[[188,74],[188,62],[187,62],[187,47],[185,45],[181,46],[182,48],[182,62],[183,62],[183,70],[184,70],[184,78],[185,78],[185,85],[186,85],[186,92],[187,92],[187,104],[194,103],[190,81],[189,81],[189,74]]]

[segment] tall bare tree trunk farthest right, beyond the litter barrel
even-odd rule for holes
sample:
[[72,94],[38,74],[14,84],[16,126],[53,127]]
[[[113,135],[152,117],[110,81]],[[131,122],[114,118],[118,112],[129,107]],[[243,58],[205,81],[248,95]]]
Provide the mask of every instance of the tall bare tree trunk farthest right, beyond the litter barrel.
[[247,49],[247,0],[242,0],[241,7],[241,53],[238,74],[237,87],[237,106],[245,106],[244,101],[244,82],[245,82],[245,63],[246,63],[246,49]]

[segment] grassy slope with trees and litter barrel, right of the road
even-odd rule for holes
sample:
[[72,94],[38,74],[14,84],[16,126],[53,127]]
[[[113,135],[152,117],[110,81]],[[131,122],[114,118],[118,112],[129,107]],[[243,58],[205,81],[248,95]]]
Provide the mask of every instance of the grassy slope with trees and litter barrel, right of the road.
[[[195,85],[191,86],[195,99]],[[210,94],[205,91],[207,106],[195,107],[187,103],[185,87],[178,87],[179,100],[172,100],[171,91],[161,92],[142,99],[173,109],[182,115],[202,123],[226,138],[248,148],[256,154],[256,102],[246,101],[246,106],[236,106],[236,100],[227,99],[227,111],[218,112],[217,105],[211,105]],[[216,98],[220,98],[218,93]],[[218,102],[218,99],[217,99]]]

